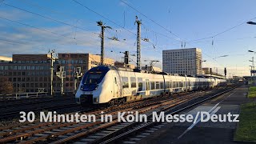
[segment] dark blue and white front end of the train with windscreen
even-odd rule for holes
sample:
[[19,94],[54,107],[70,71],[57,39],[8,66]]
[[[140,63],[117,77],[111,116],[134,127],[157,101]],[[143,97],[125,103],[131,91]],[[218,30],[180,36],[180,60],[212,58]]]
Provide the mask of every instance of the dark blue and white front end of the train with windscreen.
[[100,103],[102,81],[110,70],[107,66],[97,66],[86,72],[75,94],[76,102],[81,106],[92,106]]

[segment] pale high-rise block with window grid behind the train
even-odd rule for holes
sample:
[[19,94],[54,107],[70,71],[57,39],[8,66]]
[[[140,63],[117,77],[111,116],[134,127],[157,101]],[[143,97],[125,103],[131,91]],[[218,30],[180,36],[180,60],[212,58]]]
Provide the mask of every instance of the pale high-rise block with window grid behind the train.
[[202,50],[162,50],[162,70],[171,74],[202,74]]

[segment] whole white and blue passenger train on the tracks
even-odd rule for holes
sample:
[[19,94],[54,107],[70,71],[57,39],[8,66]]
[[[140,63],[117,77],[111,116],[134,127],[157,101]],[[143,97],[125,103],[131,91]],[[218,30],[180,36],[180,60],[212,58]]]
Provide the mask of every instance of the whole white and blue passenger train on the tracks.
[[75,98],[82,106],[112,106],[160,94],[205,90],[225,82],[226,79],[148,74],[97,66],[83,76]]

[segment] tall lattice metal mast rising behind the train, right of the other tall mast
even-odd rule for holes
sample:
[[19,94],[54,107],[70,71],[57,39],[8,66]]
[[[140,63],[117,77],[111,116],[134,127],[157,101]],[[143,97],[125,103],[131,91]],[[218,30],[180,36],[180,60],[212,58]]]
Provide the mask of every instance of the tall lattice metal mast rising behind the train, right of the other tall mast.
[[137,30],[137,68],[141,69],[141,24],[142,22],[138,20],[136,16],[136,22],[138,25]]

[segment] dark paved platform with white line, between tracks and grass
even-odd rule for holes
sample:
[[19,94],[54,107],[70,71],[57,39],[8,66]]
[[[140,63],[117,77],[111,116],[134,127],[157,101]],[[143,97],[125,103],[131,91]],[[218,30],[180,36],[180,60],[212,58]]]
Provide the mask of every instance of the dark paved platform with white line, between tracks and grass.
[[[200,106],[186,110],[183,114],[195,115],[198,111],[213,114],[239,114],[239,106],[250,102],[246,98],[248,87],[241,86]],[[190,122],[165,123],[138,143],[235,143],[233,142],[237,122]]]

